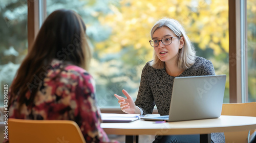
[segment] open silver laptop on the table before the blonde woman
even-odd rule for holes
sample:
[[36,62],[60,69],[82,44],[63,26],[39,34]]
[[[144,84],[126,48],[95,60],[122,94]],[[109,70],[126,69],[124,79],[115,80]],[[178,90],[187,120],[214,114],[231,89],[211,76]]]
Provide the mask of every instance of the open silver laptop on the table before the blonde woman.
[[140,118],[150,121],[187,121],[221,115],[226,75],[176,77],[169,115]]

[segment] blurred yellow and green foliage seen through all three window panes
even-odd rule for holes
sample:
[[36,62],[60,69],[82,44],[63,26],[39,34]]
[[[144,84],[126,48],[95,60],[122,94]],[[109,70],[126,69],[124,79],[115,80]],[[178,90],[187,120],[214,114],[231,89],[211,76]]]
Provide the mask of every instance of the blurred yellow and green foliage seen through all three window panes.
[[[0,0],[0,84],[10,86],[27,54],[27,1]],[[256,101],[256,2],[247,1],[248,94]],[[114,93],[125,89],[136,99],[143,66],[152,60],[148,40],[161,18],[180,21],[197,56],[212,61],[216,74],[227,75],[224,103],[229,102],[228,1],[223,0],[48,0],[47,14],[76,11],[87,25],[93,49],[90,73],[96,81],[98,106],[118,107]],[[2,89],[1,89],[1,92]],[[2,105],[2,101],[0,101]]]

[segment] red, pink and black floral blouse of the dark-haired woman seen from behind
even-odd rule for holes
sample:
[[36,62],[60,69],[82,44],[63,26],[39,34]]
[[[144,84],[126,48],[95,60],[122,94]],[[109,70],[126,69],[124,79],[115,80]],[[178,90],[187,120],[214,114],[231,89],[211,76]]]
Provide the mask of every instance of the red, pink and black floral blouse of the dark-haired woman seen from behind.
[[[75,65],[64,67],[59,60],[53,60],[46,71],[47,76],[39,85],[33,106],[28,107],[25,102],[19,114],[16,96],[10,101],[9,117],[27,120],[72,120],[80,127],[86,142],[110,142],[100,128],[100,110],[96,107],[92,76]],[[26,98],[30,98],[29,91]]]

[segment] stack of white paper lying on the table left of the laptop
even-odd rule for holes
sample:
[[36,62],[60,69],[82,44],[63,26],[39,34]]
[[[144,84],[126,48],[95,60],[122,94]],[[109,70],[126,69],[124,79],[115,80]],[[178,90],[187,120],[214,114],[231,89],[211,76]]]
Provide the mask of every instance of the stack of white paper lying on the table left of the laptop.
[[106,122],[128,123],[128,122],[138,120],[140,114],[101,113],[100,115],[103,123],[106,123]]

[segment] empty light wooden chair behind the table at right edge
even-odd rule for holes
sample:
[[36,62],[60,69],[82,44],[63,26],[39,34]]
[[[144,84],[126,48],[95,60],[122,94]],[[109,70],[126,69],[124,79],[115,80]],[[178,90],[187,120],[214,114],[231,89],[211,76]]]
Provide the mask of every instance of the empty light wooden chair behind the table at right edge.
[[[223,104],[221,115],[256,116],[256,102]],[[224,132],[226,143],[248,142],[249,131]],[[250,134],[254,131],[251,130]]]

